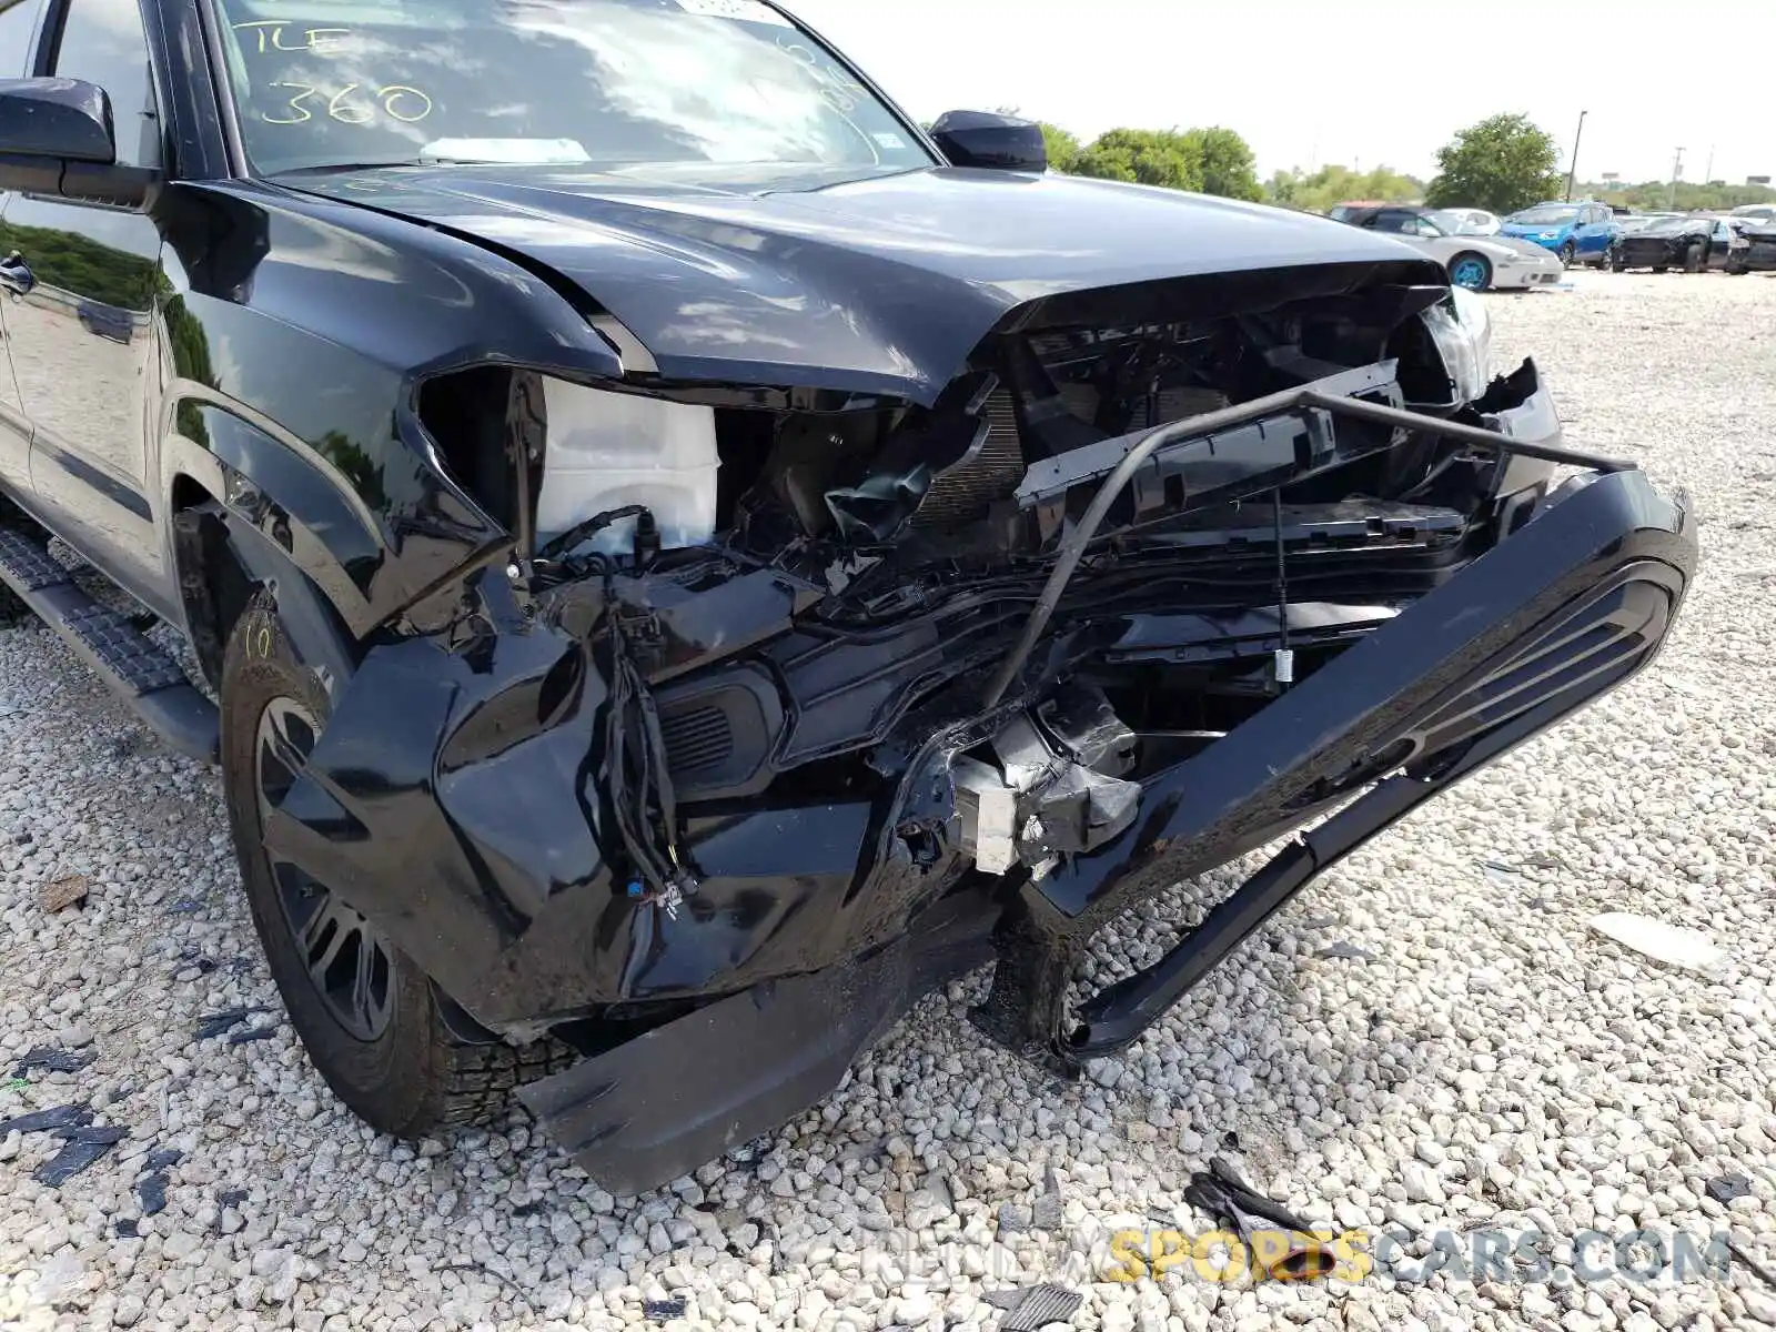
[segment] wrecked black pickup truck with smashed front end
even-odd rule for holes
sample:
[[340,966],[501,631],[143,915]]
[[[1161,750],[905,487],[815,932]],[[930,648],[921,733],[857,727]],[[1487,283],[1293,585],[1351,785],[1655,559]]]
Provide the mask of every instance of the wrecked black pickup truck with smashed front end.
[[1691,577],[1437,263],[927,131],[764,0],[0,0],[0,60],[5,609],[220,764],[391,1133],[515,1089],[646,1188],[986,963],[1076,1073]]

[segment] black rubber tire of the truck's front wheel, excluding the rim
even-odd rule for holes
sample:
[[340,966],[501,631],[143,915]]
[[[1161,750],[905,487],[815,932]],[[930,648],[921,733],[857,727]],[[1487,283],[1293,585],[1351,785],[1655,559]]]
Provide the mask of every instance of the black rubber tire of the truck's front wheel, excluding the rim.
[[309,975],[261,844],[254,749],[259,719],[277,698],[295,700],[325,726],[327,691],[297,664],[275,600],[261,591],[234,625],[224,657],[222,787],[252,922],[297,1035],[339,1099],[384,1133],[416,1138],[496,1117],[513,1089],[568,1067],[577,1055],[552,1039],[524,1048],[462,1039],[426,975],[387,941],[385,1030],[362,1041],[341,1025]]

